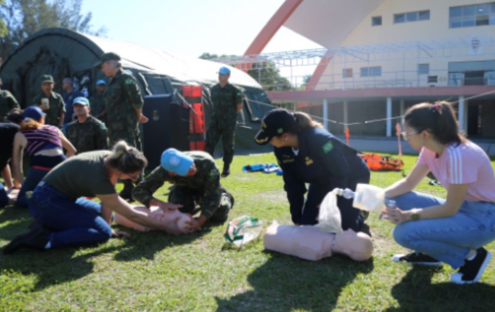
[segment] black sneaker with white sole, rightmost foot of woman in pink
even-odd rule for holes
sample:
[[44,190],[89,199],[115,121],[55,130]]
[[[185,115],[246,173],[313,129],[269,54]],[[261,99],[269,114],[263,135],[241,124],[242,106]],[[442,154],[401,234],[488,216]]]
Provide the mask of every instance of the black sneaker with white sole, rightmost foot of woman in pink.
[[484,269],[490,262],[491,254],[483,247],[476,249],[473,260],[465,260],[459,271],[450,275],[450,281],[455,284],[472,284],[483,275]]

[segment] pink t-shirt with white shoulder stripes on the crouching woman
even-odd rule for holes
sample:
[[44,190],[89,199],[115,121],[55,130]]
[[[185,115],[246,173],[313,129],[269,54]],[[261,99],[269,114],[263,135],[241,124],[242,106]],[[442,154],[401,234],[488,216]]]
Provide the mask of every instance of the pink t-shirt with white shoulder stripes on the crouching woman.
[[486,153],[467,141],[447,146],[440,157],[423,147],[418,163],[427,165],[435,177],[449,189],[450,184],[469,184],[466,200],[495,202],[495,175]]

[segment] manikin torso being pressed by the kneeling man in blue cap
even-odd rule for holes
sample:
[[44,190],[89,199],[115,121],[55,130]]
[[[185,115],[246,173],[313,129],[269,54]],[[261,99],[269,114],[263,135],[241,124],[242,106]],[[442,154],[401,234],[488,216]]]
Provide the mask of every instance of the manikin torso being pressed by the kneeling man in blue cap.
[[[191,221],[191,216],[188,214],[183,214],[178,210],[168,210],[168,211],[163,211],[159,209],[157,206],[151,206],[146,208],[145,206],[134,206],[132,208],[135,211],[145,213],[149,217],[152,217],[153,219],[160,221],[160,222],[167,222],[170,220],[177,219],[177,226],[179,229],[184,230],[186,227],[186,222]],[[153,229],[147,228],[145,226],[142,226],[138,223],[135,223],[133,221],[130,221],[129,219],[125,218],[124,216],[120,214],[115,214],[115,223],[124,226],[129,229],[133,229],[136,231],[141,231],[141,232],[149,232]]]

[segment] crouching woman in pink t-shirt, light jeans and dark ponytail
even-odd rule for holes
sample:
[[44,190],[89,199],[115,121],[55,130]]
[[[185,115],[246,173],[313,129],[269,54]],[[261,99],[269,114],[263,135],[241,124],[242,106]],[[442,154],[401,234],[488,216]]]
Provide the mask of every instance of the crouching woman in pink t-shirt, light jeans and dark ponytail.
[[[400,245],[414,250],[395,255],[393,261],[441,266],[458,272],[457,284],[476,282],[490,261],[483,248],[495,239],[495,176],[486,153],[458,134],[450,103],[421,103],[403,117],[402,136],[421,150],[418,162],[402,180],[387,187],[396,208],[383,211],[396,224],[393,235]],[[447,188],[447,198],[412,192],[429,173]]]

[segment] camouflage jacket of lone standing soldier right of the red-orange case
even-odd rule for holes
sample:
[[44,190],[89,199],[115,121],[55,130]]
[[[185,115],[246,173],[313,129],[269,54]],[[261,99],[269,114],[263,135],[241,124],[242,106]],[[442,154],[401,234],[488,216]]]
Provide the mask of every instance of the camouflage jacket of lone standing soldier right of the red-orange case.
[[213,112],[210,124],[219,129],[235,129],[237,126],[237,104],[242,103],[242,91],[227,83],[223,88],[220,83],[211,88]]

